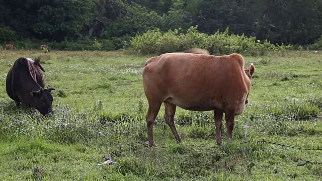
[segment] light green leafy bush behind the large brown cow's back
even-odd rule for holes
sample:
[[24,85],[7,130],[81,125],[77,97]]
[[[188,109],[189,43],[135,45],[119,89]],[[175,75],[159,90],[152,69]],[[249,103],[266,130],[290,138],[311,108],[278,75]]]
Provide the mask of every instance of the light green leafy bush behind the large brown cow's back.
[[264,55],[292,48],[291,45],[273,45],[267,40],[259,41],[256,37],[247,37],[244,34],[228,35],[228,28],[224,32],[217,31],[213,35],[207,35],[198,32],[197,26],[191,27],[186,34],[180,30],[170,30],[166,33],[160,30],[147,31],[142,35],[136,35],[130,45],[137,54],[163,54],[182,52],[189,48],[203,48],[216,55],[230,53]]

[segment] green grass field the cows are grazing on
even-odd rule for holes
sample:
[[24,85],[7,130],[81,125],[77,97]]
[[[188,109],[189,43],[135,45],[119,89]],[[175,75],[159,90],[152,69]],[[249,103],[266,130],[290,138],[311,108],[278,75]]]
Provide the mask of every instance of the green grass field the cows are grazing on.
[[[17,109],[6,76],[19,57],[42,55],[54,116]],[[177,144],[163,118],[159,148],[145,146],[147,101],[142,67],[148,57],[123,52],[0,51],[0,180],[321,180],[322,54],[245,57],[254,63],[250,103],[223,126],[217,147],[212,112],[177,109]],[[208,147],[205,147],[208,146]],[[111,154],[115,164],[102,164]],[[310,161],[303,166],[297,164]],[[316,162],[317,164],[312,164]]]

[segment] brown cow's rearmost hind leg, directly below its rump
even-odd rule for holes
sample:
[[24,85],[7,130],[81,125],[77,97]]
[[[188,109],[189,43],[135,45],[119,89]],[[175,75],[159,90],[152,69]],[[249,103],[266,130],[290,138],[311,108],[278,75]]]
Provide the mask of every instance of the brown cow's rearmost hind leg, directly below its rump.
[[148,138],[150,147],[156,146],[154,139],[153,139],[153,125],[154,125],[154,120],[157,116],[157,113],[160,110],[161,105],[162,105],[162,102],[157,103],[157,104],[150,104],[149,103],[149,108],[148,108],[146,116],[145,116],[146,126],[147,126],[147,138]]

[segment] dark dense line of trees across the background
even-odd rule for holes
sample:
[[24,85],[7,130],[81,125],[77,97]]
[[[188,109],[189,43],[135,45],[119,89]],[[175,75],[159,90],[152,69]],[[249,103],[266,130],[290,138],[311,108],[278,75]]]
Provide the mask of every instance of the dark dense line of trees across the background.
[[278,44],[312,44],[322,35],[318,0],[5,0],[0,41],[113,39],[170,29],[254,36]]

